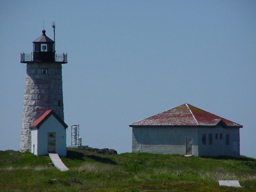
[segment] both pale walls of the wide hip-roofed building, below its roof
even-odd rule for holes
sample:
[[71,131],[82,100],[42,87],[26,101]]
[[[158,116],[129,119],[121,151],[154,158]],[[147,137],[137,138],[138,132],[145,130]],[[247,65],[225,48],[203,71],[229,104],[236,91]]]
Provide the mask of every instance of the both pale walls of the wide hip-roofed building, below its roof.
[[[206,134],[206,145],[202,144],[203,133]],[[210,133],[212,145],[209,145]],[[218,139],[215,139],[215,133],[218,133]],[[226,145],[226,134],[229,135],[229,145]],[[133,127],[132,152],[186,154],[186,138],[192,139],[193,156],[240,156],[239,129],[224,127]]]

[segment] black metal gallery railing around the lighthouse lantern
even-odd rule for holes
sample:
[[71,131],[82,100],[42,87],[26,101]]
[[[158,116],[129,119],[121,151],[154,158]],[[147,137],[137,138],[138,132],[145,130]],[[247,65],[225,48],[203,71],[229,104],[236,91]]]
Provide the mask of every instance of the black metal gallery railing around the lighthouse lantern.
[[[33,53],[20,53],[20,62],[26,63],[26,62],[33,62],[33,61],[41,61],[41,62],[49,62],[49,60],[44,59],[35,59],[38,57],[33,57]],[[52,59],[53,61],[53,59]],[[54,62],[61,62],[61,63],[67,63],[68,62],[68,54],[62,53],[62,54],[55,54],[54,56]]]

